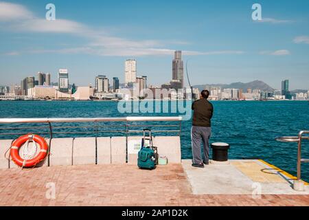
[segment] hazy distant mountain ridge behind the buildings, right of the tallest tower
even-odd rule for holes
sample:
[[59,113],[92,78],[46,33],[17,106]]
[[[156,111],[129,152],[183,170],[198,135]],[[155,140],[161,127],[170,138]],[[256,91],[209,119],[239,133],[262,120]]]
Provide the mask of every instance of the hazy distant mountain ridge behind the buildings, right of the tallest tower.
[[275,91],[275,89],[260,80],[255,80],[250,83],[238,82],[231,84],[194,85],[193,87],[198,88],[200,91],[205,89],[205,87],[221,87],[222,89],[242,89],[244,92],[246,92],[249,88],[261,89],[262,91]]

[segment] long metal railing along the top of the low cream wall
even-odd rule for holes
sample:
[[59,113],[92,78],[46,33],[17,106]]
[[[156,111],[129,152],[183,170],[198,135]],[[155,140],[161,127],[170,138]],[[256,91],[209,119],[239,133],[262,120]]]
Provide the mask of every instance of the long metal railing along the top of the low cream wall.
[[[128,133],[143,132],[145,128],[153,128],[153,133],[181,134],[182,117],[123,117],[123,118],[0,118],[0,138],[37,133],[41,135],[80,135],[93,134],[98,137],[100,133]],[[88,124],[84,124],[88,122]],[[106,124],[119,122],[122,124]],[[156,122],[157,124],[134,124],[135,122]],[[176,122],[177,124],[158,124],[159,122]],[[48,124],[43,126],[41,124]],[[56,126],[59,123],[69,123],[66,126]],[[32,126],[3,126],[3,124],[33,124]],[[82,124],[82,125],[80,125]],[[142,129],[138,129],[138,127]],[[133,129],[134,128],[134,129]],[[158,130],[158,128],[161,128]],[[163,129],[162,129],[163,128]],[[32,131],[38,132],[32,132]],[[78,131],[76,131],[78,130]],[[3,133],[2,131],[5,131]]]

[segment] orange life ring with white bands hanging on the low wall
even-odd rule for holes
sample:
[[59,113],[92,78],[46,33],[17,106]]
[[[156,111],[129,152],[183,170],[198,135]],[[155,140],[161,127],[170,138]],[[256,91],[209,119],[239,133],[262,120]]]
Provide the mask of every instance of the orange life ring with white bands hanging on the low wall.
[[[27,141],[36,142],[40,145],[41,148],[38,155],[36,155],[36,157],[32,159],[22,159],[21,156],[19,155],[19,148],[23,146],[23,144],[25,144],[25,142]],[[17,166],[28,168],[28,167],[34,167],[39,162],[43,161],[43,159],[45,159],[45,157],[47,156],[47,151],[48,151],[48,145],[43,137],[39,135],[28,134],[19,137],[17,140],[13,142],[10,150],[10,155],[12,157],[12,160]]]

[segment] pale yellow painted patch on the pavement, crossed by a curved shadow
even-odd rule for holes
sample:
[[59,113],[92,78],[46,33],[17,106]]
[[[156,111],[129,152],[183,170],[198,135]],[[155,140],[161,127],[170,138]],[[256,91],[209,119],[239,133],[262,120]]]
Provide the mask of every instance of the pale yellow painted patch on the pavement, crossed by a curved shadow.
[[273,168],[265,168],[261,164],[254,161],[251,162],[232,162],[244,175],[247,175],[252,181],[259,183],[286,183],[277,170]]

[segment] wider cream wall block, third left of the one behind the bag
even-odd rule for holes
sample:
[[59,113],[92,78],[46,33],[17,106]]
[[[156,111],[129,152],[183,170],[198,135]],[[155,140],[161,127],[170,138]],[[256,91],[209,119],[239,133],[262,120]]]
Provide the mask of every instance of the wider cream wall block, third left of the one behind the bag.
[[73,141],[73,165],[95,164],[95,137],[76,137]]

